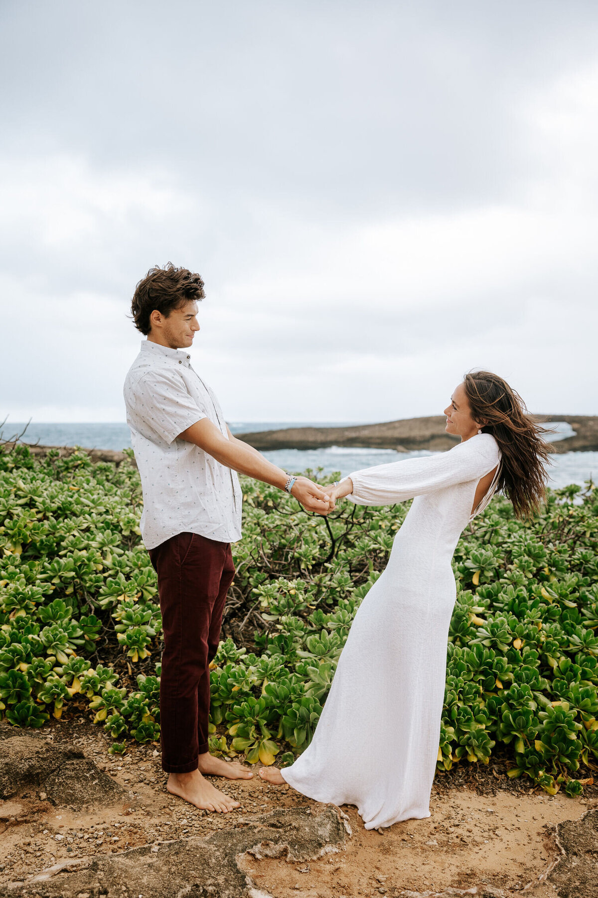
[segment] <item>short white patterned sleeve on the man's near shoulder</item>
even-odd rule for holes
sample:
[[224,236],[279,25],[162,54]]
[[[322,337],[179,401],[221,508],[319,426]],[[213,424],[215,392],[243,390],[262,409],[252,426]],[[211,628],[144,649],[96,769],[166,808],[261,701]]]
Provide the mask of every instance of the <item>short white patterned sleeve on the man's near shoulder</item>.
[[144,374],[129,390],[126,402],[132,418],[144,426],[139,429],[149,428],[169,445],[187,427],[207,417],[177,372]]

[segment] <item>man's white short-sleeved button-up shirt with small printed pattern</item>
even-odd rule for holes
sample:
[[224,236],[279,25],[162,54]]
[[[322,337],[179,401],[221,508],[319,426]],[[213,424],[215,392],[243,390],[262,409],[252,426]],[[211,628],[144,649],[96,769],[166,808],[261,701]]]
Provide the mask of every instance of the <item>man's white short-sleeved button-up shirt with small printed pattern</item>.
[[195,374],[185,349],[143,340],[125,380],[126,423],[141,474],[141,532],[147,549],[177,533],[219,542],[241,538],[235,471],[178,434],[209,418],[228,439],[220,403]]

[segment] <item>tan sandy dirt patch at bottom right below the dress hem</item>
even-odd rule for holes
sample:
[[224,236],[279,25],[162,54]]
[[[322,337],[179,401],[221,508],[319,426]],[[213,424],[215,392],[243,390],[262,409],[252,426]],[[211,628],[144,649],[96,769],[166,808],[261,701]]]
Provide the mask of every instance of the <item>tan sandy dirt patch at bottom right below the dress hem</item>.
[[430,809],[426,820],[395,823],[380,833],[366,831],[355,809],[345,807],[353,838],[342,855],[322,858],[307,871],[264,860],[247,872],[276,898],[514,895],[524,889],[534,898],[555,898],[558,893],[541,881],[559,857],[555,824],[577,820],[586,806],[560,795],[521,800],[498,792],[489,799],[462,791],[437,793]]

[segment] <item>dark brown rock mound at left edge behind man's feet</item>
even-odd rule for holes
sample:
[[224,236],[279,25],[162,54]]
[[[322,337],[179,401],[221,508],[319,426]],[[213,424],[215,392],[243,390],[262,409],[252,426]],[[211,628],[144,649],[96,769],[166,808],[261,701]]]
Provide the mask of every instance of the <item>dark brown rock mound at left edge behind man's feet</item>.
[[0,743],[0,797],[12,798],[28,789],[53,805],[108,805],[122,800],[118,787],[80,749],[56,746],[42,736],[3,734]]

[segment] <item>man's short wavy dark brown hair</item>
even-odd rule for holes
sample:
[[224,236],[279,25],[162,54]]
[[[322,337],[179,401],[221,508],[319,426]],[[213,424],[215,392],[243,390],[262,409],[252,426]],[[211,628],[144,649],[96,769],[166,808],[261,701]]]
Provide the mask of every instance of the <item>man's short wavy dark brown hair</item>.
[[150,269],[135,287],[131,313],[137,330],[152,330],[150,315],[156,309],[166,318],[181,305],[204,299],[204,281],[189,269],[177,269],[169,262],[163,269]]

